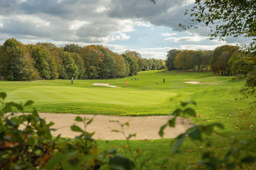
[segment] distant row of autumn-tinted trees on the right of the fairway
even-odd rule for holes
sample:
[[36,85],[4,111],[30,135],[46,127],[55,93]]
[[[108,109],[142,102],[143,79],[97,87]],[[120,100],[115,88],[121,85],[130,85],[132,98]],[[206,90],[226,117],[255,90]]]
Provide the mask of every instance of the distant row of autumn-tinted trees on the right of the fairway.
[[233,45],[221,45],[214,50],[171,49],[165,60],[168,70],[213,71],[222,75],[246,74],[250,54],[245,54]]

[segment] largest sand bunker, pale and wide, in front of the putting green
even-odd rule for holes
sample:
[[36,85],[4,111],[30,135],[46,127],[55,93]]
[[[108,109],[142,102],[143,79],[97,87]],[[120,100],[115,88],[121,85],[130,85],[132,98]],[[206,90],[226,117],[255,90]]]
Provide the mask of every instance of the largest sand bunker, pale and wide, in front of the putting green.
[[[19,114],[21,115],[21,114]],[[51,128],[57,129],[52,131],[54,136],[61,134],[62,137],[72,137],[80,133],[71,131],[70,126],[74,123],[83,129],[83,123],[76,122],[75,118],[80,116],[81,118],[92,118],[94,115],[76,115],[76,114],[53,114],[53,113],[39,113],[41,118],[45,118],[46,122],[54,122],[55,125]],[[126,135],[137,133],[136,137],[131,139],[142,140],[142,139],[160,139],[158,135],[160,127],[165,124],[171,117],[170,116],[147,116],[147,117],[130,117],[130,116],[106,116],[106,115],[97,115],[90,125],[87,127],[88,132],[95,132],[93,138],[95,139],[125,139],[123,134],[120,132],[111,132],[112,130],[121,130],[118,123],[109,122],[109,121],[119,121],[120,123],[129,122],[130,126],[125,127],[124,130]],[[164,138],[174,138],[177,137],[180,133],[186,131],[187,128],[190,128],[193,124],[184,118],[176,118],[175,128],[167,127],[165,129]]]

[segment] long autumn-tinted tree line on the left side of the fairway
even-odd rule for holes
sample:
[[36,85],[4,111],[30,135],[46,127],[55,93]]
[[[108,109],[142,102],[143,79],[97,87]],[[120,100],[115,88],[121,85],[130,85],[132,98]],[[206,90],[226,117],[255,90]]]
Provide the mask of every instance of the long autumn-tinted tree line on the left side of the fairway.
[[8,39],[0,46],[0,75],[7,80],[109,79],[138,71],[165,69],[161,59],[142,58],[137,51],[118,54],[103,45],[22,44]]

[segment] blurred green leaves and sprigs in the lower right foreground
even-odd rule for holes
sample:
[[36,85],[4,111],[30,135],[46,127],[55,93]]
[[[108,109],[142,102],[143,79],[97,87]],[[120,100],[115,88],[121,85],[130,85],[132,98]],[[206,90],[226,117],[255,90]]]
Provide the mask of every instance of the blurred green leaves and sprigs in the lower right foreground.
[[[182,102],[181,106],[186,107],[188,104],[195,104],[193,101]],[[174,116],[170,119],[165,125],[163,125],[159,130],[159,135],[163,136],[164,129],[167,126],[175,127],[175,119],[177,116],[190,115],[196,117],[196,113],[192,108],[176,109],[170,115]],[[211,135],[214,133],[214,128],[224,129],[224,126],[220,123],[214,123],[209,125],[194,125],[193,127],[186,130],[185,133],[181,133],[176,137],[176,142],[173,145],[172,152],[180,153],[179,148],[185,139],[191,138],[192,140],[199,140],[201,142],[207,142],[203,138],[205,135]],[[252,140],[233,140],[222,156],[216,155],[211,151],[206,151],[202,153],[202,160],[198,161],[197,165],[189,166],[190,170],[199,170],[199,169],[236,169],[242,168],[245,164],[255,164],[256,163],[256,138]],[[207,145],[211,145],[211,142],[208,141]],[[255,168],[255,166],[254,166]],[[178,168],[177,168],[178,169]]]

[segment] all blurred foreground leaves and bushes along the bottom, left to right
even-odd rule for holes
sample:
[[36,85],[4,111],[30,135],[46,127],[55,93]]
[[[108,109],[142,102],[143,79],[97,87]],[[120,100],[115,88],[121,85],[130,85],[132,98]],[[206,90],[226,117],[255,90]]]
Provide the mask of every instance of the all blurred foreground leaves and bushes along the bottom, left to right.
[[[131,170],[136,169],[136,156],[140,153],[135,153],[133,161],[116,154],[115,149],[100,151],[97,142],[92,138],[94,133],[86,131],[86,126],[92,122],[91,120],[76,117],[77,122],[84,123],[84,130],[73,125],[71,129],[80,132],[80,135],[74,139],[61,138],[61,136],[53,137],[51,131],[54,130],[51,126],[54,123],[47,124],[44,119],[41,119],[36,110],[32,114],[24,114],[16,116],[12,113],[13,108],[18,111],[23,111],[23,107],[33,104],[33,101],[28,101],[26,104],[17,104],[14,102],[5,102],[6,93],[0,93],[0,103],[2,110],[0,111],[0,169],[100,169],[104,168],[113,170]],[[181,103],[182,107],[194,102]],[[179,108],[171,113],[173,116],[159,130],[159,135],[163,136],[164,129],[167,126],[175,127],[177,116],[190,115],[196,117],[196,113],[191,108]],[[113,121],[117,122],[117,121]],[[117,122],[119,123],[119,122]],[[129,126],[129,123],[120,124]],[[204,139],[205,135],[210,135],[214,132],[215,127],[224,128],[221,124],[195,125],[186,130],[185,133],[176,137],[176,142],[173,145],[173,154],[181,153],[180,147],[186,138],[192,140],[200,140],[206,145],[211,142]],[[113,130],[116,132],[125,132]],[[126,136],[127,141],[136,134]],[[129,145],[129,142],[127,142]],[[226,149],[223,155],[216,155],[214,151],[202,153],[202,159],[195,165],[190,165],[187,169],[252,169],[256,168],[256,138],[250,141],[233,140],[230,146]],[[127,146],[129,148],[129,146]],[[134,153],[133,153],[134,154]],[[182,153],[181,153],[182,154]],[[172,155],[173,156],[173,155]],[[108,159],[107,159],[108,158]],[[147,158],[148,160],[148,158]],[[146,161],[146,160],[145,160]],[[177,170],[178,165],[174,166]],[[174,168],[174,169],[175,169]],[[251,169],[250,168],[250,169]]]

